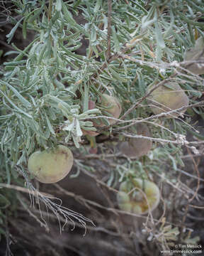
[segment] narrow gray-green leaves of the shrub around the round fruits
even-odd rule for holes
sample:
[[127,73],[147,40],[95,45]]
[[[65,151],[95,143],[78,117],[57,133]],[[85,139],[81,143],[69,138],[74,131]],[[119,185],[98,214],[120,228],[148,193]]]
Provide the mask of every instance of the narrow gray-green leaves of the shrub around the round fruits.
[[[145,95],[149,84],[168,79],[175,72],[174,80],[188,90],[191,103],[201,95],[202,78],[178,67],[185,49],[195,43],[195,33],[204,36],[204,23],[198,22],[204,13],[202,1],[113,0],[113,57],[109,59],[107,1],[50,0],[47,4],[45,0],[16,0],[13,4],[21,19],[8,34],[8,43],[17,28],[22,29],[23,38],[28,31],[33,31],[35,38],[24,50],[13,42],[16,57],[4,63],[1,72],[0,182],[17,182],[15,166],[26,169],[28,156],[39,148],[71,140],[79,147],[81,129],[95,130],[87,119],[101,114],[97,108],[89,110],[89,99],[97,100],[103,90],[118,97],[123,113]],[[84,25],[76,21],[79,13],[86,21]],[[89,46],[84,55],[78,55],[83,38]],[[126,119],[144,119],[150,114],[144,101]],[[152,124],[153,137],[174,140],[178,131],[186,133],[186,124],[172,122],[172,134],[170,122],[162,123],[167,130]],[[118,127],[126,124],[119,123]],[[176,170],[177,164],[182,164],[181,149],[173,147],[166,144],[162,150],[155,149],[147,169],[154,171],[170,159],[171,168]],[[117,168],[115,177],[122,181],[124,168]],[[112,181],[113,174],[108,184]]]

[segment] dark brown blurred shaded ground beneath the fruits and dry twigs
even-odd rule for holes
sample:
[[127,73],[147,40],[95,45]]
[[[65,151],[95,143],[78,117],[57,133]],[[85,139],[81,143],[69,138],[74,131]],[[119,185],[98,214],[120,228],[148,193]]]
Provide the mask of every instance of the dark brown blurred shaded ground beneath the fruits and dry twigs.
[[[201,123],[203,124],[203,121]],[[77,152],[74,156],[76,159],[80,158]],[[7,242],[11,243],[10,248],[13,255],[150,256],[152,252],[154,252],[154,255],[161,255],[162,247],[159,240],[149,239],[148,241],[151,235],[148,232],[144,233],[145,227],[151,228],[151,221],[149,220],[148,224],[146,222],[147,215],[135,217],[128,213],[121,213],[117,206],[116,193],[108,189],[105,183],[103,184],[101,177],[108,173],[107,161],[111,164],[114,162],[114,158],[108,159],[104,156],[104,159],[107,160],[104,163],[95,159],[94,156],[93,159],[91,159],[91,155],[88,156],[89,158],[85,162],[87,165],[95,166],[97,174],[89,174],[88,171],[84,170],[77,178],[68,176],[53,185],[40,184],[39,190],[61,198],[64,207],[90,218],[96,226],[87,223],[86,235],[84,235],[84,227],[76,221],[76,226],[72,230],[73,223],[68,221],[60,234],[59,220],[57,220],[56,215],[47,211],[45,206],[40,205],[41,217],[46,221],[49,228],[49,232],[47,232],[45,227],[40,227],[38,221],[42,220],[38,204],[35,202],[35,208],[25,208],[20,205],[15,218],[13,218],[13,215],[8,218],[8,230],[11,236]],[[81,159],[84,159],[84,156],[81,156]],[[126,159],[121,159],[121,161],[126,161]],[[204,159],[202,157],[194,157],[192,161],[191,156],[186,153],[183,156],[183,161],[186,164],[185,171],[190,175],[195,175],[193,171],[193,161],[195,161],[198,164],[200,178],[204,178]],[[73,168],[70,175],[76,174],[76,171]],[[195,191],[197,186],[195,178],[186,178],[186,175],[179,174],[178,181]],[[162,198],[166,202],[171,202],[170,205],[166,204],[166,224],[174,223],[181,228],[187,203],[186,198],[177,188],[164,184]],[[16,193],[19,192],[16,191]],[[200,182],[198,193],[199,201],[194,199],[191,204],[202,207],[204,198],[203,182]],[[29,196],[21,193],[21,199],[29,206]],[[154,225],[161,218],[163,211],[164,204],[161,201],[159,207],[153,211]],[[60,223],[63,226],[64,219],[62,217],[60,217]],[[154,228],[154,225],[152,225],[152,228]],[[203,211],[197,208],[189,208],[184,225],[186,228],[192,229],[192,238],[200,237],[200,242],[196,242],[196,244],[204,246]],[[186,230],[185,237],[188,236],[188,232]],[[179,240],[176,241],[176,244],[179,244]],[[4,255],[6,240],[1,240],[0,245],[0,255]]]

